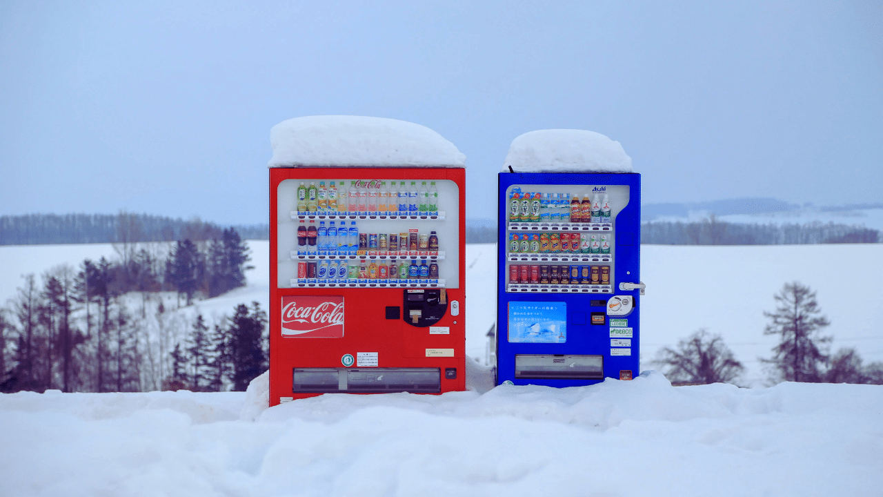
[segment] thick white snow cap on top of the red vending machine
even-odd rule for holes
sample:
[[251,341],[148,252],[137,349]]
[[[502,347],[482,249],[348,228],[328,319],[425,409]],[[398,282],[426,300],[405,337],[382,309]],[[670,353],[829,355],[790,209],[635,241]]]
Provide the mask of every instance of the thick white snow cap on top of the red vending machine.
[[306,116],[270,130],[269,167],[465,167],[466,156],[441,134],[397,119]]

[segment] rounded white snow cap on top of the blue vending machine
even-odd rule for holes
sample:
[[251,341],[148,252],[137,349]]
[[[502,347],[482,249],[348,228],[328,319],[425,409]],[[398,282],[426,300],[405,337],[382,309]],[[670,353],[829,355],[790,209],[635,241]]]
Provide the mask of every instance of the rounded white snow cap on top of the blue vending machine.
[[582,129],[540,129],[509,145],[502,172],[632,172],[619,141]]

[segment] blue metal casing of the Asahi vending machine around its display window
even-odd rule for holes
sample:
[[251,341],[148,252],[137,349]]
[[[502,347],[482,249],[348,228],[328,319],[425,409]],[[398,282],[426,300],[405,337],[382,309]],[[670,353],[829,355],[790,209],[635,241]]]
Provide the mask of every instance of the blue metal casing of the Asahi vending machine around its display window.
[[[582,174],[582,173],[511,173],[501,172],[498,177],[498,201],[502,209],[498,216],[498,242],[497,242],[497,384],[503,382],[511,382],[516,385],[546,385],[546,386],[582,386],[599,383],[599,379],[567,379],[567,378],[536,378],[536,379],[516,379],[515,378],[515,356],[521,354],[530,355],[586,355],[586,356],[602,356],[603,369],[605,378],[620,378],[621,371],[630,371],[630,375],[637,376],[639,371],[639,351],[640,351],[640,295],[638,290],[623,291],[618,286],[621,282],[638,283],[640,281],[640,205],[641,205],[641,177],[638,173],[623,174]],[[568,191],[568,193],[577,192],[578,186],[627,186],[628,187],[628,203],[622,207],[622,210],[615,215],[612,224],[612,233],[614,239],[612,262],[607,263],[613,268],[613,274],[610,274],[611,288],[609,293],[582,293],[582,289],[578,289],[579,293],[571,293],[574,291],[570,287],[567,293],[562,291],[566,286],[556,288],[552,291],[551,285],[532,285],[531,289],[535,291],[528,292],[507,292],[509,285],[509,264],[508,252],[509,237],[511,233],[519,230],[509,230],[509,198],[507,191],[513,185],[530,186],[545,185],[558,186],[558,191]],[[565,185],[573,185],[574,187],[563,187]],[[541,187],[537,188],[540,191]],[[623,191],[620,188],[617,191]],[[532,191],[532,190],[526,190]],[[519,223],[520,224],[520,223]],[[536,228],[531,228],[536,229]],[[546,233],[545,230],[540,230]],[[525,232],[527,233],[527,232]],[[552,233],[552,232],[550,232]],[[592,233],[592,232],[590,232]],[[571,261],[572,262],[572,261]],[[518,263],[518,265],[528,264],[532,262]],[[538,263],[533,265],[543,265]],[[555,263],[545,263],[555,264]],[[561,264],[568,264],[562,262]],[[577,263],[573,263],[577,264]],[[578,265],[596,265],[600,263],[578,263]],[[551,267],[549,268],[551,271]],[[519,287],[528,287],[521,285]],[[545,291],[544,291],[545,290]],[[630,347],[612,347],[610,333],[611,316],[606,315],[607,301],[614,295],[629,296],[634,301],[635,309],[631,311],[627,317],[612,317],[615,319],[625,319],[626,321],[616,323],[617,345],[630,343]],[[594,302],[592,302],[594,301]],[[599,302],[601,301],[601,302]],[[566,321],[565,333],[560,333],[566,340],[559,340],[556,343],[549,343],[549,340],[538,341],[509,341],[509,308],[510,303],[516,307],[524,307],[528,305],[521,302],[549,302],[551,306],[558,306],[563,302],[566,308],[566,315],[560,318]],[[594,305],[592,305],[594,303]],[[532,304],[531,304],[532,305]],[[596,323],[599,317],[603,316],[603,323]],[[550,321],[550,320],[546,320]],[[544,321],[545,322],[545,321]],[[539,320],[538,320],[539,323]],[[623,326],[625,325],[625,326]],[[523,324],[521,326],[524,333]],[[629,333],[623,328],[631,328]],[[534,325],[534,332],[540,333],[549,331],[549,326],[537,324]],[[517,334],[517,333],[516,333]],[[540,333],[541,334],[541,333]],[[539,334],[537,335],[539,336]],[[546,341],[546,342],[543,342]],[[622,353],[628,349],[630,356],[615,355],[612,352]]]

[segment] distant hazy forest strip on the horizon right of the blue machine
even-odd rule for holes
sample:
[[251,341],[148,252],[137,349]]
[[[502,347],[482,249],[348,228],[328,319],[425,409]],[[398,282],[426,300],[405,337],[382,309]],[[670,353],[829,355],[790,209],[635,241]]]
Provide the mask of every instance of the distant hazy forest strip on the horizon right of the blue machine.
[[727,223],[714,215],[691,223],[641,225],[641,243],[658,245],[795,245],[806,243],[877,243],[880,233],[863,226],[822,224],[758,225]]

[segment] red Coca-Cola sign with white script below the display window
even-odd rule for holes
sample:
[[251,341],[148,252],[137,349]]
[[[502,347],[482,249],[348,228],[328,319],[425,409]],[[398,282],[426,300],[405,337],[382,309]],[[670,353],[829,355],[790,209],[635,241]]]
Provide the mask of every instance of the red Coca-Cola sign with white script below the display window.
[[343,296],[283,296],[282,334],[300,338],[343,337]]

